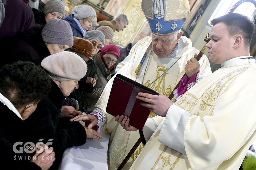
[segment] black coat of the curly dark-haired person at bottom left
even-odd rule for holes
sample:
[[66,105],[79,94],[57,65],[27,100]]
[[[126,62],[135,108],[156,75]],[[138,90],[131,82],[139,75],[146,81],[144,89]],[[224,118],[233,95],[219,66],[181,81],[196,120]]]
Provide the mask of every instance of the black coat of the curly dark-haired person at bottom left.
[[15,147],[20,150],[20,147],[23,148],[29,141],[27,135],[31,134],[27,125],[2,102],[0,102],[0,110],[2,113],[0,123],[0,164],[2,167],[5,165],[8,169],[41,170],[39,166],[28,160],[29,155],[26,155],[25,152],[17,154],[13,149],[16,142],[22,142]]

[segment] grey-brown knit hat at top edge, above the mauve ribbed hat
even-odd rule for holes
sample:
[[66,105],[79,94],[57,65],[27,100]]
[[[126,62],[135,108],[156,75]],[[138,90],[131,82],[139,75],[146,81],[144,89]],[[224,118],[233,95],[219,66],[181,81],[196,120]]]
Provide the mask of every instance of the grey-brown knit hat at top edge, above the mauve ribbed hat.
[[58,12],[62,14],[62,17],[65,16],[65,6],[59,0],[49,0],[44,6],[44,15],[47,15],[51,12]]

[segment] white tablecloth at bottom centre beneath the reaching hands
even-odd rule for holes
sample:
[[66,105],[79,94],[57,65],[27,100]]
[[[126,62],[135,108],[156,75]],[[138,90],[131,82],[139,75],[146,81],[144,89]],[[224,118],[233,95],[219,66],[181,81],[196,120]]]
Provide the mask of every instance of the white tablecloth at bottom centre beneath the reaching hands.
[[86,139],[83,146],[66,149],[60,170],[108,170],[109,135],[100,133],[102,139]]

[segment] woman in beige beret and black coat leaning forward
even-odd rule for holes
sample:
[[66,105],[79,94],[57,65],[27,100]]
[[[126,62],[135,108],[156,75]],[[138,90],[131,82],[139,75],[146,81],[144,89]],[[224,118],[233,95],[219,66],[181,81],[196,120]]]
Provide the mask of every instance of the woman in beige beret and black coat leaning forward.
[[[65,96],[79,87],[78,81],[86,74],[85,61],[73,52],[63,51],[47,56],[41,66],[51,76],[52,88],[25,122],[33,134],[29,141],[37,143],[42,139],[44,143],[52,142],[56,160],[50,169],[58,169],[65,149],[83,145],[86,138],[100,139],[101,135],[80,122],[60,118]],[[91,115],[91,118],[97,121],[95,116]]]

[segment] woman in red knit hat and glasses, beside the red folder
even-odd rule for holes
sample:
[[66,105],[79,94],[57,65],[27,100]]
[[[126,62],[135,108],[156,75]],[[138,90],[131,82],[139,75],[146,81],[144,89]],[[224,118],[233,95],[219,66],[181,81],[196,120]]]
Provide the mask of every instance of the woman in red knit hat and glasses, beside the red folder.
[[114,64],[119,58],[120,50],[116,45],[106,45],[101,49],[101,52],[96,54],[95,60],[97,64],[97,72],[95,78],[97,80],[96,85],[91,93],[85,93],[84,107],[87,113],[94,110],[94,106],[97,103],[103,89],[108,81],[115,74]]

